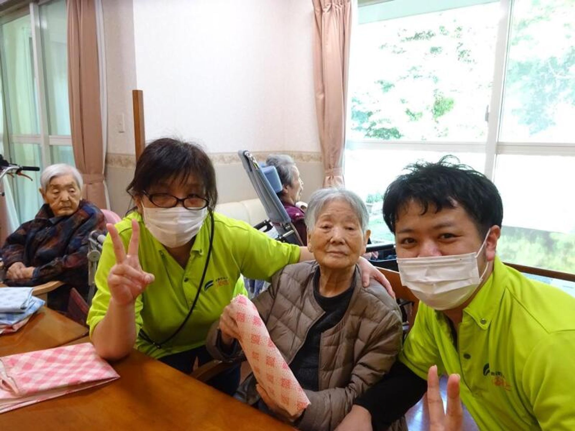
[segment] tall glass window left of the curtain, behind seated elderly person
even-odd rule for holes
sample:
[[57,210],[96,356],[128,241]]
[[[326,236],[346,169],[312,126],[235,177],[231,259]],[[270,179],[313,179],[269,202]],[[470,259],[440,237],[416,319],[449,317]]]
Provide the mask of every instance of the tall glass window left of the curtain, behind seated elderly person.
[[[3,155],[13,163],[74,164],[68,109],[66,0],[26,7],[0,17]],[[20,221],[30,220],[42,200],[40,174],[13,180]]]

